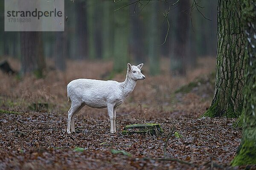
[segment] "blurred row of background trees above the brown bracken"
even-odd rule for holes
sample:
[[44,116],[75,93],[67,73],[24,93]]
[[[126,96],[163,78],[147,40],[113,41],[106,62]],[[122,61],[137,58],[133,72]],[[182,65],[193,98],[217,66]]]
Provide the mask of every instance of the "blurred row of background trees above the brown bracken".
[[[4,32],[2,15],[0,55],[20,59],[22,74],[33,71],[39,76],[46,67],[45,58],[52,58],[61,71],[66,59],[113,60],[115,72],[122,71],[128,61],[147,62],[150,74],[155,75],[160,73],[160,57],[169,57],[171,73],[185,75],[195,67],[197,57],[216,55],[217,0],[200,3],[211,21],[195,6],[192,9],[192,0],[172,6],[167,18],[163,12],[169,6],[156,1],[114,11],[131,2],[65,0],[64,32]],[[4,10],[3,1],[0,8]]]

